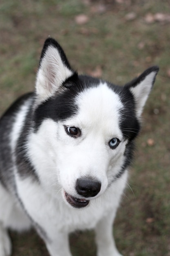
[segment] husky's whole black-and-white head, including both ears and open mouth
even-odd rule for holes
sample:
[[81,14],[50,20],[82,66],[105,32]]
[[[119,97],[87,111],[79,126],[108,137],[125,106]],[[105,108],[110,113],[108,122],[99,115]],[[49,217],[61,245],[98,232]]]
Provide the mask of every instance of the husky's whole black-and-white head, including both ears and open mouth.
[[60,45],[46,40],[29,139],[46,189],[53,195],[62,191],[66,203],[82,208],[121,177],[157,72],[152,67],[124,87],[78,76]]

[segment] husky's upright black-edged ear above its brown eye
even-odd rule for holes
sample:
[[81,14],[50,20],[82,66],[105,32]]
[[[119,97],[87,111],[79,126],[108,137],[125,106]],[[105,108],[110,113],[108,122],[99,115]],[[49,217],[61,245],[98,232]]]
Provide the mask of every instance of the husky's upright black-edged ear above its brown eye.
[[53,39],[47,38],[42,49],[36,79],[38,101],[44,101],[60,90],[60,86],[71,77],[74,71],[62,47]]

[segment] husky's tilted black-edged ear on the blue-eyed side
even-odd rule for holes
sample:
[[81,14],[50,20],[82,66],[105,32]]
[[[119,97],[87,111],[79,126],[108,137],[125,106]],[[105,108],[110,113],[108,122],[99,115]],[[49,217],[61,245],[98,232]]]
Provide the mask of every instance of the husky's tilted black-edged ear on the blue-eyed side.
[[130,90],[135,99],[137,117],[141,116],[142,110],[155,82],[155,77],[158,71],[159,67],[157,66],[149,67],[139,77],[125,85],[125,87]]

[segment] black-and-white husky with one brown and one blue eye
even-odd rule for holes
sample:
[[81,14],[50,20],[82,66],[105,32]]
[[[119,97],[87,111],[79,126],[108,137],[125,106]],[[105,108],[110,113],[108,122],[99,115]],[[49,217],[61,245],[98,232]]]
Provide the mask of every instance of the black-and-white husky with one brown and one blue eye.
[[71,256],[68,234],[93,228],[97,256],[121,256],[112,224],[158,70],[117,86],[78,75],[45,41],[35,92],[0,119],[0,256],[11,255],[7,229],[32,226],[51,256]]

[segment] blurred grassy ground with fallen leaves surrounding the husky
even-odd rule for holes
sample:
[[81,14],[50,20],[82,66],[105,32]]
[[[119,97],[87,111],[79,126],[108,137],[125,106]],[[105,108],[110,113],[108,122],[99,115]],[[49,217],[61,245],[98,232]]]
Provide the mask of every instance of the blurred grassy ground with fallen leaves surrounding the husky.
[[[47,37],[79,73],[124,85],[159,65],[114,234],[124,256],[170,256],[170,0],[0,0],[0,114],[33,90]],[[11,232],[13,256],[47,256],[34,231]],[[71,235],[95,256],[93,231]]]

